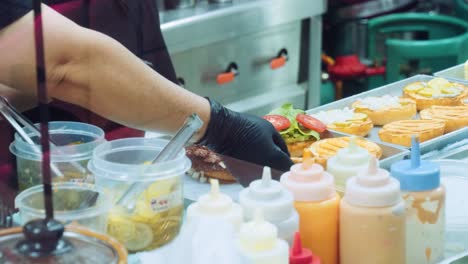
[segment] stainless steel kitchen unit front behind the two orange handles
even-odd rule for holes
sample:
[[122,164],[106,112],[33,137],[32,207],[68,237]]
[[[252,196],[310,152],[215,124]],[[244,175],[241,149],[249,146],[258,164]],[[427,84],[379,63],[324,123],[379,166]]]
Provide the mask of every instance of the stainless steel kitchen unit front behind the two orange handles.
[[[287,101],[307,109],[320,103],[321,15],[326,3],[202,1],[194,8],[160,12],[161,29],[188,90],[241,112],[265,114]],[[273,71],[269,61],[283,47],[288,49],[287,66]],[[217,84],[216,75],[231,62],[239,65],[238,78]]]

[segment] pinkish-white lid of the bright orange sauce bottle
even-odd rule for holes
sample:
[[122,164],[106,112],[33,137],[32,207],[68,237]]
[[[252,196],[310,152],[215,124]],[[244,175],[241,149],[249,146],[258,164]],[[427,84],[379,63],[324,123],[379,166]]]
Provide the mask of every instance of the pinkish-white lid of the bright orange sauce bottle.
[[335,194],[333,176],[318,164],[293,165],[289,172],[281,176],[281,183],[296,201],[323,201]]

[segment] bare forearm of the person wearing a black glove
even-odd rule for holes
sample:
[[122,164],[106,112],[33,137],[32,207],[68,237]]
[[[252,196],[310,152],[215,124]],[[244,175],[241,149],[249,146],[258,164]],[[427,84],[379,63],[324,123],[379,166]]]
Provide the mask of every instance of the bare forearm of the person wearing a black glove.
[[[32,93],[32,15],[27,16],[30,18],[22,18],[0,33],[0,50],[2,42],[21,40],[19,49],[18,45],[8,47],[20,53],[8,58],[18,70],[0,73],[0,82]],[[15,33],[16,36],[8,37]],[[154,72],[117,41],[79,27],[49,8],[44,12],[44,37],[50,97],[83,106],[130,127],[165,133],[173,133],[187,115],[196,112],[205,121],[200,133],[203,135],[210,115],[208,101]]]

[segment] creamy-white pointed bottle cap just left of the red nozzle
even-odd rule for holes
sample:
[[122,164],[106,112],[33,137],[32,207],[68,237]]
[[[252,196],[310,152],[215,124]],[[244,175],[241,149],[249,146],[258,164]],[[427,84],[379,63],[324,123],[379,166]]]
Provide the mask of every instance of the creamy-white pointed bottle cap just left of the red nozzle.
[[239,241],[250,252],[267,251],[275,247],[278,229],[263,218],[261,209],[256,209],[254,220],[240,228]]

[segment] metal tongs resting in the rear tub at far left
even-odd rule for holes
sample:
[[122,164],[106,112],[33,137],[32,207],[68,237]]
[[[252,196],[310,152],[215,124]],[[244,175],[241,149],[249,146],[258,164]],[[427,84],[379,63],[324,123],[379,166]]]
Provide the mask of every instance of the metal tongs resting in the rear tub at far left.
[[[41,153],[41,150],[39,147],[34,143],[34,141],[31,139],[31,137],[24,131],[23,127],[28,128],[32,133],[39,137],[41,136],[41,131],[31,122],[27,117],[25,117],[20,111],[18,111],[13,105],[8,102],[8,100],[0,96],[0,113],[5,117],[5,119],[10,123],[11,126],[16,130],[18,135],[32,146],[32,149],[37,152],[38,154]],[[20,125],[21,124],[21,125]],[[53,147],[57,147],[59,144],[57,144],[52,138],[49,138],[50,145]],[[86,173],[86,169],[81,166],[77,162],[71,162],[71,165],[80,173]],[[64,174],[55,166],[54,164],[51,164],[51,170],[52,172],[58,176],[58,177],[64,177]]]

